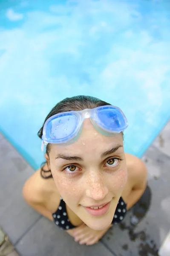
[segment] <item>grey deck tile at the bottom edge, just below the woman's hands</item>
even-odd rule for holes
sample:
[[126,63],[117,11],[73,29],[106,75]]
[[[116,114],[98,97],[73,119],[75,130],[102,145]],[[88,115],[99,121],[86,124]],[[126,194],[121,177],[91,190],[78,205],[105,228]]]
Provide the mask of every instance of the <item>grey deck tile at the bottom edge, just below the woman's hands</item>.
[[101,242],[93,246],[80,245],[52,221],[41,218],[16,245],[22,256],[112,256]]

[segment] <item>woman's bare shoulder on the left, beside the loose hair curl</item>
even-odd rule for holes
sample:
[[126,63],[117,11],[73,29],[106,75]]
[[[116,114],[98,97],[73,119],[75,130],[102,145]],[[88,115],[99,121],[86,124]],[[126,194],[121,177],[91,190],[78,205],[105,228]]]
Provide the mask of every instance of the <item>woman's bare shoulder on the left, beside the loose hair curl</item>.
[[[47,166],[44,166],[47,169]],[[23,186],[23,198],[27,202],[43,203],[54,192],[56,186],[54,180],[43,179],[40,175],[40,169],[38,169],[31,177],[26,180]]]

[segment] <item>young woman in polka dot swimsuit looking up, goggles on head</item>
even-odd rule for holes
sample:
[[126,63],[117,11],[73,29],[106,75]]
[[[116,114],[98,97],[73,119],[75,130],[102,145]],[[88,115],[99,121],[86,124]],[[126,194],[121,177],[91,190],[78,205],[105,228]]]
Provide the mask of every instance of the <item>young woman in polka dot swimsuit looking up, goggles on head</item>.
[[46,163],[26,181],[23,197],[80,244],[97,243],[147,186],[144,163],[124,153],[127,126],[119,108],[76,96],[55,105],[38,132]]

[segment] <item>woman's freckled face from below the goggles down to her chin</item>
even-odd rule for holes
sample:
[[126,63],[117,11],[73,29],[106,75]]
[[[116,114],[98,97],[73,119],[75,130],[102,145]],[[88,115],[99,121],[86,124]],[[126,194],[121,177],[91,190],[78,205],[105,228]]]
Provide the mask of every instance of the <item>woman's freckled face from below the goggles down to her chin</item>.
[[[90,228],[107,228],[127,182],[122,134],[106,137],[85,119],[74,143],[51,144],[49,164],[68,207]],[[100,210],[89,208],[105,204]]]

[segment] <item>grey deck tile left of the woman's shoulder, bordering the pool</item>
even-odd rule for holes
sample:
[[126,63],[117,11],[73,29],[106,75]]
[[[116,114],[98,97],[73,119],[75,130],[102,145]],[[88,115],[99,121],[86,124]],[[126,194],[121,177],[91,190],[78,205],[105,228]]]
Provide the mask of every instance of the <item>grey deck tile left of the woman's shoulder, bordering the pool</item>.
[[29,207],[22,198],[23,184],[34,171],[2,134],[0,158],[0,226],[15,244],[40,218],[40,214]]

